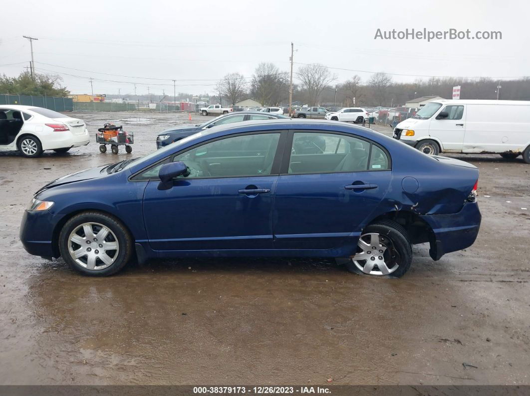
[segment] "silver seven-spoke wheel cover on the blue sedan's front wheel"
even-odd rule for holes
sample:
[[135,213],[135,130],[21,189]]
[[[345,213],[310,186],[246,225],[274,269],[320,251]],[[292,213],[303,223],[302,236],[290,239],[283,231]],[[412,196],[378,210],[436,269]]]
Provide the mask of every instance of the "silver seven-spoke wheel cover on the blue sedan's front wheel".
[[83,268],[103,270],[118,257],[118,238],[100,223],[83,223],[68,236],[68,252]]

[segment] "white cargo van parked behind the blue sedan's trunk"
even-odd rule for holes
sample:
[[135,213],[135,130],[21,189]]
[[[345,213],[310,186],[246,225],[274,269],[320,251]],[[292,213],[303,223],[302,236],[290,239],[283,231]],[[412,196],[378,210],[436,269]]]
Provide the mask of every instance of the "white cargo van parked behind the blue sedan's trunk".
[[530,163],[530,102],[522,100],[435,100],[394,129],[418,150],[445,153],[523,154]]

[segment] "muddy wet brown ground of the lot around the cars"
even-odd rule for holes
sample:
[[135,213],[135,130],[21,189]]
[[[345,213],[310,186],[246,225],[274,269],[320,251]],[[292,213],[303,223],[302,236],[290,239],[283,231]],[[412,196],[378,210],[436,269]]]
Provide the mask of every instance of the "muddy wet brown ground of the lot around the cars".
[[136,143],[131,154],[95,143],[0,154],[0,384],[530,384],[530,165],[520,158],[457,156],[481,172],[478,240],[438,262],[414,247],[399,280],[318,259],[182,259],[97,279],[23,250],[32,193],[147,154],[158,132],[189,121],[70,115],[92,134],[116,121]]

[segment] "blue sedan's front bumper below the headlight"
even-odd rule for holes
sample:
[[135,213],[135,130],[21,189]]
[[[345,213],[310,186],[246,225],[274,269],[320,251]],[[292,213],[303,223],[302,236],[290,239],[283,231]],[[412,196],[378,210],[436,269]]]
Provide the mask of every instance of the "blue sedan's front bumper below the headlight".
[[20,224],[20,241],[29,254],[42,257],[59,255],[52,242],[57,220],[57,216],[52,215],[49,210],[24,211]]

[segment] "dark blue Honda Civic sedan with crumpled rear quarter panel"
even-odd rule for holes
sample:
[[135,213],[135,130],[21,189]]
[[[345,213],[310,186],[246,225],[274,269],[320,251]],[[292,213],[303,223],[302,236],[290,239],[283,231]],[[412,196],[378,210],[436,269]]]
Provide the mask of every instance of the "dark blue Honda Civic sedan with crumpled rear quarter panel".
[[104,276],[136,257],[335,257],[401,277],[473,244],[479,171],[367,128],[275,119],[215,126],[135,160],[42,187],[20,238],[43,257]]

